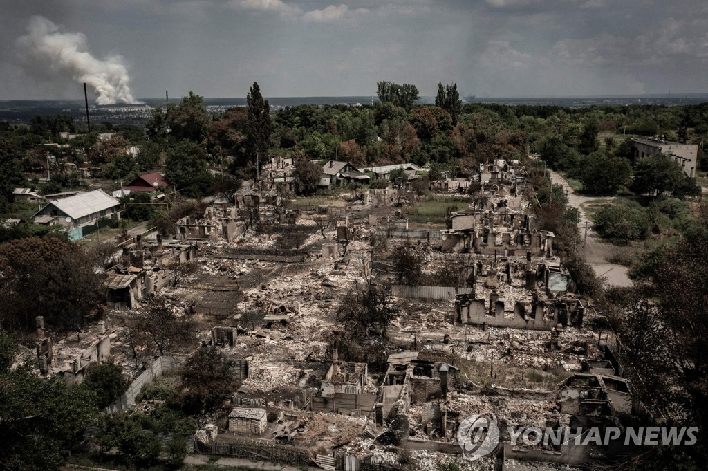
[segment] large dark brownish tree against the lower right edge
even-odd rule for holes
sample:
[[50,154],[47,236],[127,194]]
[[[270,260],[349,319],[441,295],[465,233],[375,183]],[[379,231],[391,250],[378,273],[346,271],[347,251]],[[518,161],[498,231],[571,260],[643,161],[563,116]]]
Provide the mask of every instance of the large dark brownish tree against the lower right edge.
[[650,416],[700,431],[708,425],[707,223],[703,216],[698,230],[654,254],[639,291],[611,318],[619,360]]

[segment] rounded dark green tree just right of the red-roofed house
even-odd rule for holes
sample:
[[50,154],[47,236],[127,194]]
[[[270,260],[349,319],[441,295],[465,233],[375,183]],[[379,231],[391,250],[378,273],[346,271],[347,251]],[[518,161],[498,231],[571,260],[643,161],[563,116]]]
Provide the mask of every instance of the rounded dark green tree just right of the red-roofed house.
[[205,150],[195,142],[181,140],[167,149],[165,178],[187,198],[200,198],[212,188]]

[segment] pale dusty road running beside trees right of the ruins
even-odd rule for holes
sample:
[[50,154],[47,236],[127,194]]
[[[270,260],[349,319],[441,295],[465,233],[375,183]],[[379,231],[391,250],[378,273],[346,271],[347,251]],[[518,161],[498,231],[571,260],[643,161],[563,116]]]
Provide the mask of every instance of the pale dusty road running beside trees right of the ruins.
[[605,278],[605,280],[603,280],[603,284],[605,286],[632,286],[632,280],[630,280],[629,276],[627,276],[627,267],[607,261],[622,249],[605,242],[598,235],[598,233],[595,232],[593,229],[593,222],[588,219],[585,210],[583,210],[583,203],[588,200],[596,200],[598,198],[588,198],[586,196],[577,195],[568,185],[565,178],[563,178],[560,174],[552,170],[549,170],[549,173],[551,174],[551,181],[553,183],[562,185],[565,188],[566,193],[568,193],[569,204],[580,210],[578,228],[580,229],[581,237],[585,234],[585,224],[586,222],[588,223],[588,239],[585,247],[585,258],[588,264],[593,267],[595,274],[601,278]]

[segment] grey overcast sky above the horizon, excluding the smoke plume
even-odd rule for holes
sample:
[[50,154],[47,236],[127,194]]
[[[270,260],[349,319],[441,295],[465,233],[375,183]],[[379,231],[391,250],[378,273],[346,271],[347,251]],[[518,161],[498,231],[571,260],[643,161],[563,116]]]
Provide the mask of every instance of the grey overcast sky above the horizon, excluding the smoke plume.
[[[21,55],[32,16],[122,56],[138,98],[708,91],[706,0],[1,0],[0,99],[82,98]],[[35,67],[36,66],[36,67]]]

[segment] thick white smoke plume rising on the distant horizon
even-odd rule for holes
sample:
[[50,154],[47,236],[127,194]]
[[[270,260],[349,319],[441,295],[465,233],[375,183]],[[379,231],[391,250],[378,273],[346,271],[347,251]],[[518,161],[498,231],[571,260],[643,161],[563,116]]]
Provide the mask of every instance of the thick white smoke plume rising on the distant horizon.
[[[96,91],[96,103],[136,103],[130,91],[130,76],[120,56],[96,59],[89,54],[83,33],[61,33],[59,27],[43,16],[33,16],[27,25],[27,34],[17,40],[21,59],[28,71],[68,76],[86,82]],[[48,70],[47,70],[48,69]]]

